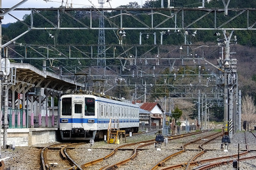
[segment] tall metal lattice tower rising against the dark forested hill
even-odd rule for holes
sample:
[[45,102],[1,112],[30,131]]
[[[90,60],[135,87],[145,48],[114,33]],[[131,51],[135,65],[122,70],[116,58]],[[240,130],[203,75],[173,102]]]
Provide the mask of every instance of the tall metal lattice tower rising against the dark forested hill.
[[[105,0],[98,0],[100,8],[103,8]],[[105,51],[105,24],[104,24],[104,10],[100,11],[101,15],[99,16],[99,38],[98,38],[98,66],[106,66],[106,51]],[[102,29],[101,29],[102,28]]]

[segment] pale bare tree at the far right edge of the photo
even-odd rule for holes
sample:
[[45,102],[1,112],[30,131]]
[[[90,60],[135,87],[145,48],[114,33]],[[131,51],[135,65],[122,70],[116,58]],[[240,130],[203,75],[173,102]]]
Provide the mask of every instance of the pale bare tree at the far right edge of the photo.
[[247,121],[249,126],[256,124],[256,108],[253,102],[253,98],[246,95],[242,99],[242,115],[241,120]]

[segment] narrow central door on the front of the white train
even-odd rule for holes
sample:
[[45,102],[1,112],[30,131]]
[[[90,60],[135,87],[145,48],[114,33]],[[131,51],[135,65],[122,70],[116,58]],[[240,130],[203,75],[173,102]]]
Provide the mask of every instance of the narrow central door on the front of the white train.
[[82,128],[83,127],[83,102],[74,102],[74,121],[72,123],[72,128]]

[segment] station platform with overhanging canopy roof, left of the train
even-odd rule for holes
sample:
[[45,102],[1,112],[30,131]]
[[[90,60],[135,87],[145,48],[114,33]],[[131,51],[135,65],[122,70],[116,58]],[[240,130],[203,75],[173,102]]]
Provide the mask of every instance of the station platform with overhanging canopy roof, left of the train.
[[[45,62],[43,70],[25,63],[12,63],[10,68],[12,83],[8,87],[8,104],[0,110],[2,125],[4,114],[8,115],[6,144],[32,146],[56,141],[58,106],[54,106],[54,99],[58,101],[61,92],[83,88],[84,84],[46,71]],[[3,129],[0,139],[3,143]]]

